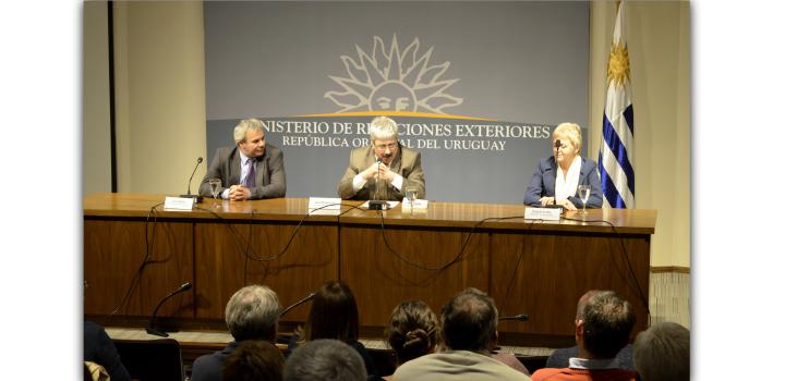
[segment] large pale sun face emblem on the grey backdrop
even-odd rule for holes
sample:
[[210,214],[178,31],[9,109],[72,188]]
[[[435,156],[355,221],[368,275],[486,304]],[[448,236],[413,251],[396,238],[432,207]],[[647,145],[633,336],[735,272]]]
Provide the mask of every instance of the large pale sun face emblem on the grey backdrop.
[[381,37],[374,36],[371,54],[359,46],[357,60],[341,56],[347,77],[330,75],[330,79],[340,85],[340,90],[325,93],[340,109],[350,111],[420,111],[445,113],[445,108],[463,103],[444,93],[459,78],[443,79],[449,67],[449,61],[438,65],[428,65],[433,47],[419,54],[420,39],[409,44],[402,51],[394,35],[389,48]]

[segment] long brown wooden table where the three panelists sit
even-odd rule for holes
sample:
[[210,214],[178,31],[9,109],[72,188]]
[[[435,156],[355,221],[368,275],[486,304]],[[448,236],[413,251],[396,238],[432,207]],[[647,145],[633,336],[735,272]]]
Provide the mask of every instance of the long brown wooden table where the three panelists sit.
[[[191,281],[193,291],[158,315],[177,327],[221,329],[226,303],[244,284],[269,285],[287,306],[340,279],[354,292],[366,336],[381,335],[404,299],[422,299],[438,314],[466,287],[488,292],[502,316],[530,316],[500,322],[508,345],[572,345],[575,306],[591,288],[618,292],[636,309],[636,330],[645,324],[654,210],[568,212],[542,222],[524,220],[520,205],[432,201],[424,211],[381,213],[343,201],[338,217],[307,216],[304,198],[205,199],[193,211],[164,210],[164,199],[85,197],[85,316],[144,321],[161,297]],[[283,324],[303,322],[307,310],[293,309]]]

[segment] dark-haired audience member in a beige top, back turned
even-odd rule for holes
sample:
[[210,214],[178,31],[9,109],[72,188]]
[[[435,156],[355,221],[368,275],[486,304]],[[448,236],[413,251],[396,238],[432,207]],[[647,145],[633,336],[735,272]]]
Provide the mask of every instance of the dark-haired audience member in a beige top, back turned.
[[498,311],[494,300],[476,288],[452,296],[442,308],[445,351],[409,360],[392,374],[408,380],[529,380],[491,357]]

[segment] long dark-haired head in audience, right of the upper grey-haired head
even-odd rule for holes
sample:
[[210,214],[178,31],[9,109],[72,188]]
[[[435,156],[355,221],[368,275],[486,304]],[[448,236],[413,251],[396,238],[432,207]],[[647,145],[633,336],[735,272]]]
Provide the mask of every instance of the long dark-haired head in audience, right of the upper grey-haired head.
[[354,294],[349,286],[340,281],[329,281],[316,291],[303,339],[336,339],[351,343],[358,339],[359,320]]

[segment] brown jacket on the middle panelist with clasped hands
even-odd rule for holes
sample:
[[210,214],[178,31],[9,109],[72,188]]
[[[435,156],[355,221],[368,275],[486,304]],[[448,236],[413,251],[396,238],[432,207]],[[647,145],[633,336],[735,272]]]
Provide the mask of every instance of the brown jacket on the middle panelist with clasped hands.
[[[342,199],[369,200],[374,198],[376,192],[376,180],[371,179],[365,185],[354,193],[352,180],[354,176],[371,167],[376,161],[373,147],[360,147],[352,149],[349,155],[349,168],[343,172],[338,183],[338,195]],[[396,189],[386,180],[379,181],[378,199],[400,201],[404,197],[406,188],[413,186],[418,188],[418,198],[425,198],[425,174],[420,163],[420,152],[400,147],[400,152],[392,163],[390,170],[403,177],[401,189]]]

